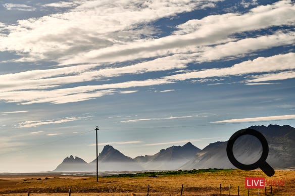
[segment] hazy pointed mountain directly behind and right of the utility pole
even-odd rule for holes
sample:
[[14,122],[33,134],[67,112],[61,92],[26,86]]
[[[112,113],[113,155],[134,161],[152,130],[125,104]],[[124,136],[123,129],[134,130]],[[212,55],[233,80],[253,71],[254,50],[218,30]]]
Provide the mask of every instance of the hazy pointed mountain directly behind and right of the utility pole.
[[[89,163],[93,171],[96,166],[96,159]],[[104,146],[102,153],[99,154],[100,171],[140,171],[143,168],[132,158],[123,155],[111,145]]]

